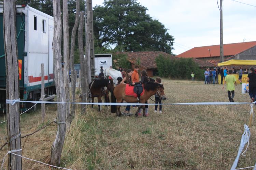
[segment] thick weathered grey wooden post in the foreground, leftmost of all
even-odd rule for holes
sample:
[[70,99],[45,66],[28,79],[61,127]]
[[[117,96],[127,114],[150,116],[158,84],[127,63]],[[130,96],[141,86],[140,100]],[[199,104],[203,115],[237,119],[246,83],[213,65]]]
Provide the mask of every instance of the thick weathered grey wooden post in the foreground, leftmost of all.
[[[19,99],[19,72],[16,42],[16,8],[14,0],[4,0],[3,6],[4,51],[6,64],[6,98]],[[19,103],[6,104],[8,150],[21,149]],[[14,152],[21,155],[21,151]],[[13,154],[8,155],[8,168],[22,169],[22,158]]]

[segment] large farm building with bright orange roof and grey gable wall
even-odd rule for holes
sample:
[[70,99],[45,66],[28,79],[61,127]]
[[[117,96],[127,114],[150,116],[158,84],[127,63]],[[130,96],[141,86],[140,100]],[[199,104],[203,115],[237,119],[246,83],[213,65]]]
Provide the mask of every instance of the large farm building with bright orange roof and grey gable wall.
[[[219,45],[194,47],[185,51],[176,57],[179,58],[196,58],[202,61],[208,61],[216,65],[219,63],[220,50]],[[224,61],[230,59],[237,60],[255,60],[256,59],[256,41],[224,44]]]

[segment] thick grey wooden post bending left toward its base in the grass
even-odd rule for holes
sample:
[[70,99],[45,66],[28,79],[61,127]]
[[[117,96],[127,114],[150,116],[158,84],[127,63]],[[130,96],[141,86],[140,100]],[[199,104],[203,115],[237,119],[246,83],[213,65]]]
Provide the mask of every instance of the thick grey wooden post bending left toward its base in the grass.
[[[54,36],[53,36],[53,56],[54,56],[54,74],[56,83],[57,100],[66,102],[66,91],[63,81],[62,65],[61,65],[61,12],[60,0],[53,0],[54,14]],[[58,104],[57,111],[57,133],[52,145],[51,164],[60,165],[61,152],[66,134],[66,104]]]

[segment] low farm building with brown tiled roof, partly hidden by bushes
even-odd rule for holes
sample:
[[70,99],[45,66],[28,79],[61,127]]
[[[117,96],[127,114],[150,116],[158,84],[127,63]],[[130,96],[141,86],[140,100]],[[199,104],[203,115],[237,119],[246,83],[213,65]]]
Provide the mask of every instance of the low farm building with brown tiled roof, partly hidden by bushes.
[[[177,60],[179,58],[172,56],[166,52],[162,51],[140,51],[140,52],[116,52],[115,54],[125,54],[128,57],[128,61],[131,63],[132,69],[136,65],[137,61],[140,61],[140,70],[145,69],[147,71],[148,76],[156,76],[157,75],[157,65],[155,59],[159,55],[163,55],[165,57],[170,57],[171,59]],[[201,61],[198,59],[193,59],[196,63],[198,63],[200,68],[214,67],[214,64]]]

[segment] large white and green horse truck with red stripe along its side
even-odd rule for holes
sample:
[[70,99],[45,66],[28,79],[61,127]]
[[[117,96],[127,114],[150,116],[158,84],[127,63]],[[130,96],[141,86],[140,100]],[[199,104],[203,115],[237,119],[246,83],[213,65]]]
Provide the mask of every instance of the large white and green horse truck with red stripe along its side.
[[[55,93],[53,66],[53,17],[26,4],[16,5],[20,99],[38,101],[41,96],[41,63],[47,99]],[[5,104],[6,80],[3,42],[3,4],[0,4],[0,103]]]

